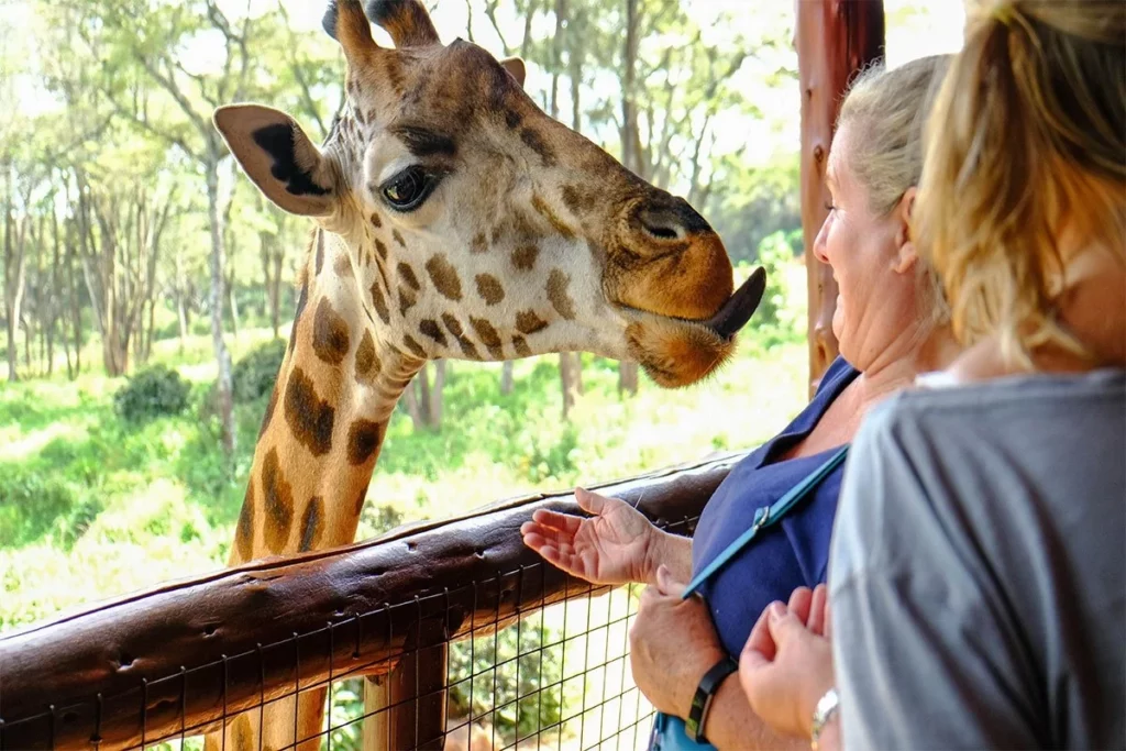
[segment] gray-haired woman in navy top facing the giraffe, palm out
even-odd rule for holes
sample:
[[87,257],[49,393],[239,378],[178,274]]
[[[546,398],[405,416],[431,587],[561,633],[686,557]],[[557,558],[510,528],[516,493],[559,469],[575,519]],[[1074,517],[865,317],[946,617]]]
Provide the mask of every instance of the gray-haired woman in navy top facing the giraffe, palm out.
[[[589,517],[539,511],[522,529],[569,573],[650,584],[631,632],[634,680],[665,718],[682,718],[692,741],[784,742],[727,680],[733,655],[768,602],[824,581],[841,461],[864,414],[953,356],[939,287],[909,229],[923,116],[946,62],[873,69],[852,84],[829,154],[829,216],[807,261],[831,266],[840,287],[832,325],[841,357],[810,405],[732,470],[694,537],[665,534],[628,504],[582,490]],[[683,598],[694,578],[690,591],[703,597]],[[654,745],[674,726],[659,723]]]

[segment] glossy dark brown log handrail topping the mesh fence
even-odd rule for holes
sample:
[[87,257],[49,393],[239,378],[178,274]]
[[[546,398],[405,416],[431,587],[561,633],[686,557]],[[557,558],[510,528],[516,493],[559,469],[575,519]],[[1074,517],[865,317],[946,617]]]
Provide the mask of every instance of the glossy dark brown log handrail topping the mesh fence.
[[[697,517],[727,454],[600,486],[654,522]],[[579,512],[571,493],[512,499],[357,545],[251,562],[0,636],[0,749],[102,750],[153,742],[260,701],[390,670],[446,640],[501,627],[586,593],[544,565],[519,528],[536,509]]]

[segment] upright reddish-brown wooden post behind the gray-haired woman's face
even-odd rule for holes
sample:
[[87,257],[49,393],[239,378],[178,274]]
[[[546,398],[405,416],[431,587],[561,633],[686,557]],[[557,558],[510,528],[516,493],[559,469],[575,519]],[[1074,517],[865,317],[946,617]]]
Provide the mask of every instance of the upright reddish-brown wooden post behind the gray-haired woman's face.
[[810,394],[837,357],[837,283],[813,254],[828,211],[825,168],[841,97],[852,75],[884,51],[883,0],[795,0],[802,84],[802,233],[810,290]]

